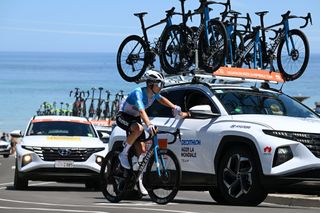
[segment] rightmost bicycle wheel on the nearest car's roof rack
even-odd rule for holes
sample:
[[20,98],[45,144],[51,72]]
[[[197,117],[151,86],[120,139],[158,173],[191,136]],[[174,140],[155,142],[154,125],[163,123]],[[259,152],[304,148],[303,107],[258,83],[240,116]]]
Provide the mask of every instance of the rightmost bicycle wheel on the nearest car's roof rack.
[[277,64],[286,81],[299,78],[309,62],[310,48],[308,39],[300,30],[290,30],[288,39],[280,41]]

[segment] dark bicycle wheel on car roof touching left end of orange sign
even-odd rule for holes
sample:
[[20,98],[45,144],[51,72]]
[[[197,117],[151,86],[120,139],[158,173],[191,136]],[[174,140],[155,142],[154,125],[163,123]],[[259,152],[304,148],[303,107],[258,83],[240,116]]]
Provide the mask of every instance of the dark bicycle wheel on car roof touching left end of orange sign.
[[199,67],[212,73],[223,65],[227,54],[226,28],[220,21],[212,19],[208,23],[208,37],[202,31],[199,39]]

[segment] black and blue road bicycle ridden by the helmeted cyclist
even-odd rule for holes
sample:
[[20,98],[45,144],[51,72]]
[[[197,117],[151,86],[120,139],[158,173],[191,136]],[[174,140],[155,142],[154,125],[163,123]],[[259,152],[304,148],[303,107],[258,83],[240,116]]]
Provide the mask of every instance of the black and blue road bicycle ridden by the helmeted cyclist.
[[[181,167],[176,155],[166,145],[163,148],[159,146],[158,134],[173,135],[173,141],[168,144],[173,144],[180,136],[179,130],[159,131],[146,139],[145,141],[152,140],[153,143],[143,160],[138,163],[137,171],[121,167],[118,158],[121,150],[112,150],[106,155],[101,165],[100,177],[102,193],[107,200],[112,203],[120,202],[126,193],[134,190],[142,173],[143,185],[152,201],[166,204],[174,199],[181,182]],[[129,156],[132,154],[129,153]],[[131,157],[129,162],[132,165]]]

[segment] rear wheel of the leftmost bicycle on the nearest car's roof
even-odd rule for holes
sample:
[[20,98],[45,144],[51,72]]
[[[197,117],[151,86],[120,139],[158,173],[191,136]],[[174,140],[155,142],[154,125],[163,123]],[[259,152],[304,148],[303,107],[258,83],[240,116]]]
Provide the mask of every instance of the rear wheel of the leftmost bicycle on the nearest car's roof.
[[123,40],[117,53],[117,67],[121,77],[129,82],[137,81],[146,71],[147,45],[144,40],[131,35]]

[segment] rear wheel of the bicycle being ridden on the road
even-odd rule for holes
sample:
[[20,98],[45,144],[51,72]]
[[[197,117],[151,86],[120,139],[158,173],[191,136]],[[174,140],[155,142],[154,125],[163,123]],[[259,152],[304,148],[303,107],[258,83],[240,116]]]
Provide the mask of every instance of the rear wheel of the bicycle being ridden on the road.
[[111,203],[118,203],[123,197],[120,184],[124,183],[124,178],[120,175],[121,166],[118,155],[119,152],[110,151],[103,159],[100,169],[101,191]]

